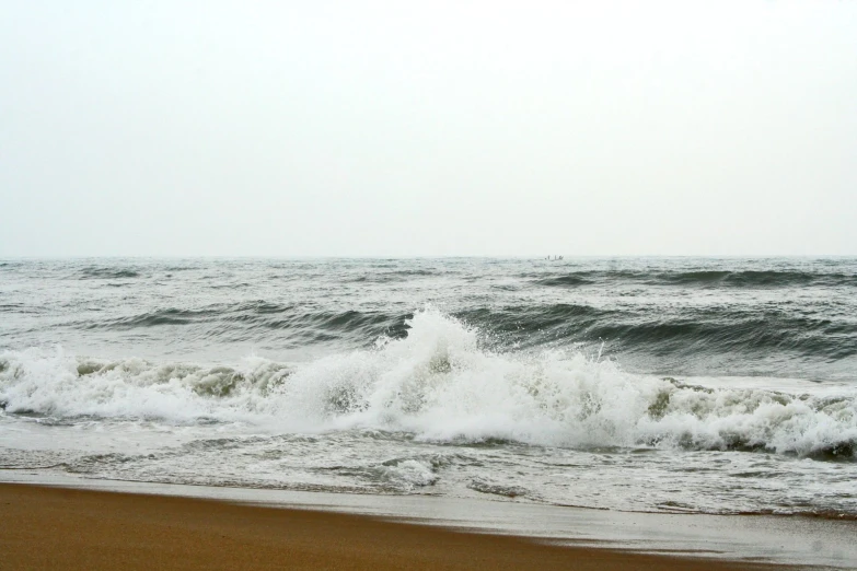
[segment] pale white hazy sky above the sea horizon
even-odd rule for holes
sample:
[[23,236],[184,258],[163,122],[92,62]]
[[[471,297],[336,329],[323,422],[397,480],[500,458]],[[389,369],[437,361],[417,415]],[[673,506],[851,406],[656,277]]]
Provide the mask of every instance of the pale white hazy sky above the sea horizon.
[[857,2],[4,2],[0,257],[857,255]]

